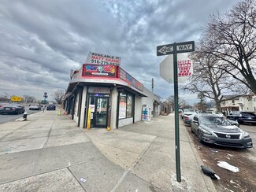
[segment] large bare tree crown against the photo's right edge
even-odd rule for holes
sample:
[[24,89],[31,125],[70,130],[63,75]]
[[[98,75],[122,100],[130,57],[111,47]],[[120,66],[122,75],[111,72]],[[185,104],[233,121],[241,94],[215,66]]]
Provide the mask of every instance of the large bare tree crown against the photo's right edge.
[[206,54],[220,61],[221,69],[256,94],[256,2],[236,3],[224,14],[210,17],[202,37]]

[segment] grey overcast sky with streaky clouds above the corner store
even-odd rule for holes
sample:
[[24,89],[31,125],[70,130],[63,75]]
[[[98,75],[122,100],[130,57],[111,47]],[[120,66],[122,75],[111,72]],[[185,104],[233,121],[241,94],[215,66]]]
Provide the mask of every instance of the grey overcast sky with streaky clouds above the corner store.
[[157,57],[156,47],[196,43],[210,14],[236,2],[1,0],[0,94],[43,99],[47,92],[50,100],[68,87],[70,70],[81,68],[91,51],[121,57],[121,68],[149,90],[154,78],[154,93],[165,99],[173,84],[159,75],[165,56]]

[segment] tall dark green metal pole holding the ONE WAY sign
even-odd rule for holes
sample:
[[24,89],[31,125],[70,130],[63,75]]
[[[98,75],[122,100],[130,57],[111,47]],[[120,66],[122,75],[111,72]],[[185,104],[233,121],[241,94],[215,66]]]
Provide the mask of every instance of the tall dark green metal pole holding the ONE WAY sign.
[[175,112],[175,150],[176,150],[176,179],[181,182],[180,176],[180,127],[179,127],[179,90],[178,90],[178,62],[176,42],[173,44],[173,79],[174,79],[174,112]]

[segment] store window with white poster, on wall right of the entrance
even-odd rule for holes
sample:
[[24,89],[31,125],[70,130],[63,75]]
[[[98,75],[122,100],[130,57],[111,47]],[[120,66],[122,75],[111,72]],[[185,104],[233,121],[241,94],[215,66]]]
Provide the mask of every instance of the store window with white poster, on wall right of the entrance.
[[133,96],[128,93],[119,95],[119,119],[132,117]]

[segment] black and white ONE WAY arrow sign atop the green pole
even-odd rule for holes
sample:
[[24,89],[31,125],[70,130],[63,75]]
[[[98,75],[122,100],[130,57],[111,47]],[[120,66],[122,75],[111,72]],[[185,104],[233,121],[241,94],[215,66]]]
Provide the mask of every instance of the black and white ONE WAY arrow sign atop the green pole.
[[168,45],[157,46],[157,56],[166,54],[187,53],[195,50],[195,42],[178,42]]

